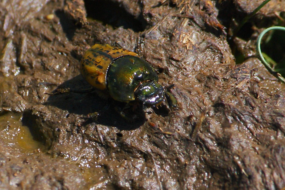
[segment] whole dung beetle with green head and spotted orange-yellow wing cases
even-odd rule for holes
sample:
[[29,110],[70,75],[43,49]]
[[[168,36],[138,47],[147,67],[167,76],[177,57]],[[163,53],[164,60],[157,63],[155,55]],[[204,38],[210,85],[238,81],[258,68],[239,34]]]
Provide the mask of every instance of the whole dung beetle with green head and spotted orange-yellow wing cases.
[[[158,84],[154,68],[135,52],[95,44],[83,55],[80,73],[99,95],[124,102],[125,107],[117,111],[127,119],[124,110],[135,104],[141,104],[144,109],[147,105],[158,106],[167,99],[169,108],[176,108],[176,98]],[[58,89],[58,93],[65,92],[78,91]]]

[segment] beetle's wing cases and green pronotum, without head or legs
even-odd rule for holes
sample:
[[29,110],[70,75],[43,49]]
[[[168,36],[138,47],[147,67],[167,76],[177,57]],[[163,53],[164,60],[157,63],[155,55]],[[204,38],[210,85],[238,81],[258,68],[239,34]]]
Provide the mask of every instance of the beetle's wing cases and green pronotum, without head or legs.
[[138,54],[119,47],[95,44],[80,61],[80,73],[96,89],[107,90],[121,102],[135,100],[135,90],[158,81],[154,68]]

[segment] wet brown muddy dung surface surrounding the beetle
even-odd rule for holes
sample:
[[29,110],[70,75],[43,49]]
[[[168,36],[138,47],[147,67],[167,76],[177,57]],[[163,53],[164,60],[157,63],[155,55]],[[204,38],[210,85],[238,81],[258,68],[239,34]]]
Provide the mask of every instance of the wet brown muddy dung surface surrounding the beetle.
[[[255,41],[284,2],[242,28],[250,38],[226,36],[257,2],[1,1],[0,188],[283,188],[285,86],[255,57]],[[44,94],[89,88],[79,61],[95,43],[147,60],[174,84],[178,110],[148,108],[127,122],[109,108],[84,122],[107,100]]]

